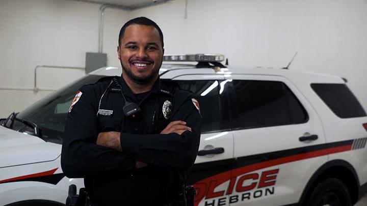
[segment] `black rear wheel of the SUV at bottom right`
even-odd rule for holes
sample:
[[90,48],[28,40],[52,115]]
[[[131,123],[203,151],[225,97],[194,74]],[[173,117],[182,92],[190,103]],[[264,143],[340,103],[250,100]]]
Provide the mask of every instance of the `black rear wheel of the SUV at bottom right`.
[[326,179],[314,187],[307,206],[350,206],[352,205],[348,188],[335,178]]

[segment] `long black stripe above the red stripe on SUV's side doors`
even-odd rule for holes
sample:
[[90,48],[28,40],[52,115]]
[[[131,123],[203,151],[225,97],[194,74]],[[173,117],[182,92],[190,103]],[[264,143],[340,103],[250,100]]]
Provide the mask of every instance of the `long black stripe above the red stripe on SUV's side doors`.
[[281,150],[257,155],[250,155],[244,157],[238,157],[235,159],[226,159],[214,162],[204,162],[195,164],[190,170],[188,184],[194,184],[200,180],[206,179],[209,176],[219,174],[231,169],[236,169],[239,167],[256,164],[260,162],[265,162],[269,160],[274,160],[282,157],[288,157],[292,155],[299,155],[303,153],[331,149],[337,146],[351,145],[354,140],[345,140],[338,142],[331,142],[325,144],[317,144],[311,146],[303,146],[301,148]]

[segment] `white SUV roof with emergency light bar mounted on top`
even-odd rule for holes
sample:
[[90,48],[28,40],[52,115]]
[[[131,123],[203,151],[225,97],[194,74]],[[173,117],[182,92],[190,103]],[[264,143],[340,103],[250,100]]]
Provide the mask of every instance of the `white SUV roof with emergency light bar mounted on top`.
[[[224,61],[224,55],[222,54],[165,55],[163,56],[164,64],[162,64],[159,74],[163,79],[174,79],[178,76],[193,74],[223,74],[225,78],[230,78],[230,75],[241,74],[282,76],[302,85],[309,83],[344,83],[344,80],[337,76],[290,71],[288,69],[226,68],[221,64],[222,61]],[[121,68],[101,68],[90,74],[120,76]]]

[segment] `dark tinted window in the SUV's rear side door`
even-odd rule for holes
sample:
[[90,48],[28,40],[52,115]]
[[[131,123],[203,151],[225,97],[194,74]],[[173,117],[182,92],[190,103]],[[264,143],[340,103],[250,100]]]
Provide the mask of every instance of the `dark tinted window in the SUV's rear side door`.
[[240,128],[300,124],[307,113],[292,91],[279,81],[233,80]]

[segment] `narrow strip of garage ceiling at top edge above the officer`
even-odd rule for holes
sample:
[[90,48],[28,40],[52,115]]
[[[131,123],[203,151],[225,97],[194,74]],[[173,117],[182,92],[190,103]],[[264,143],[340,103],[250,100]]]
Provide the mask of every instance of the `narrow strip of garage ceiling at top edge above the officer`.
[[162,4],[171,0],[71,0],[71,1],[89,2],[95,4],[108,4],[125,7],[127,10],[134,10],[157,4]]

